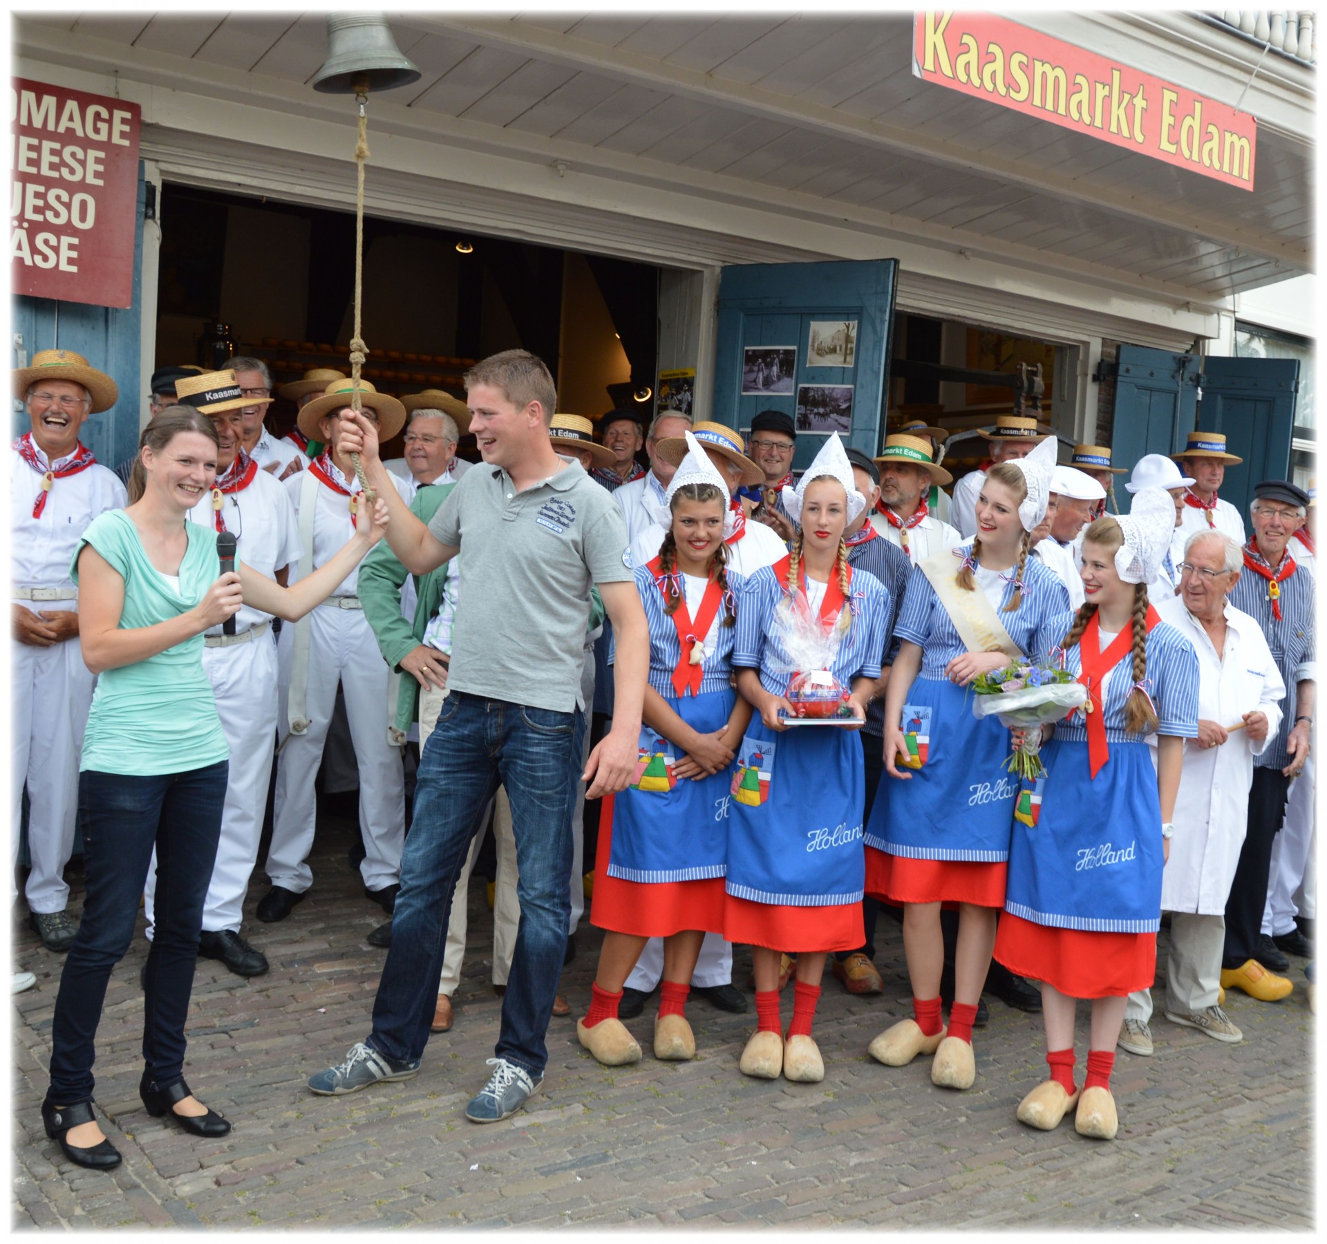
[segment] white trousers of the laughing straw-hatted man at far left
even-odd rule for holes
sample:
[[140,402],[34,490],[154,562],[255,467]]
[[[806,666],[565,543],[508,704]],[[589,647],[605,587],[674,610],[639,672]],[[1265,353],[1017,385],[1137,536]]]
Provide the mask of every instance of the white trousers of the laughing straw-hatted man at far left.
[[[38,609],[72,609],[73,601],[42,601]],[[13,740],[11,747],[11,862],[19,863],[23,788],[28,788],[28,910],[64,911],[65,865],[74,847],[78,757],[92,706],[93,676],[77,639],[49,649],[12,643]],[[11,878],[15,875],[11,869]],[[11,881],[11,889],[13,882]],[[13,894],[17,898],[17,893]]]

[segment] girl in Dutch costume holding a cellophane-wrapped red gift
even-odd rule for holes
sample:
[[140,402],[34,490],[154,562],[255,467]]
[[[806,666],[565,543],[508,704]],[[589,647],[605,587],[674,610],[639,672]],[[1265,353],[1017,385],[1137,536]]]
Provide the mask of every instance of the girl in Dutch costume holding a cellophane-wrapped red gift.
[[[752,947],[758,1028],[742,1053],[747,1076],[824,1078],[811,1036],[825,954],[863,943],[864,863],[861,745],[844,728],[787,727],[796,662],[790,619],[800,614],[840,643],[831,664],[848,688],[851,715],[865,719],[888,645],[889,593],[873,574],[853,574],[844,528],[865,507],[837,434],[798,487],[783,489],[798,533],[791,553],[748,580],[738,609],[738,691],[760,715],[742,739],[729,813],[723,936]],[[779,1016],[783,951],[799,952],[792,1024]]]

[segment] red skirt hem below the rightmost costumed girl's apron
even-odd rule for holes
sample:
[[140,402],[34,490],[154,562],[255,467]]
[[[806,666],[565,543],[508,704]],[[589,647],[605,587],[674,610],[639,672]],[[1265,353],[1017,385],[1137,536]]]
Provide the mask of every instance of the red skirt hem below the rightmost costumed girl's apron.
[[1043,980],[1066,997],[1121,997],[1152,988],[1157,935],[1054,928],[1006,911],[995,931],[995,959],[1015,976]]

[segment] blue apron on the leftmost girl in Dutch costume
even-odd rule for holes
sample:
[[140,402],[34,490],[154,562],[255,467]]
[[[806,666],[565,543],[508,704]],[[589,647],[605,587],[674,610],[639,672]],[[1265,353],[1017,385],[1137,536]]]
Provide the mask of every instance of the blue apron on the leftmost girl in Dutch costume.
[[[725,690],[664,699],[693,729],[713,733],[727,723],[735,696]],[[613,800],[609,877],[657,885],[723,875],[733,769],[678,778],[679,759],[667,739],[641,729],[636,781]]]

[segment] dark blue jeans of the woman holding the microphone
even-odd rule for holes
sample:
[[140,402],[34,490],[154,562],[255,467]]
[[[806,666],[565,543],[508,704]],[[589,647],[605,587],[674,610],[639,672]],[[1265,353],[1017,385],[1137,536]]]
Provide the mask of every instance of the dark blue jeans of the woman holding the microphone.
[[143,999],[143,1062],[162,1088],[184,1070],[184,1020],[194,988],[203,899],[212,878],[230,765],[133,777],[78,775],[88,897],[56,995],[46,1101],[92,1097],[93,1041],[111,969],[129,950],[157,849],[155,931]]

